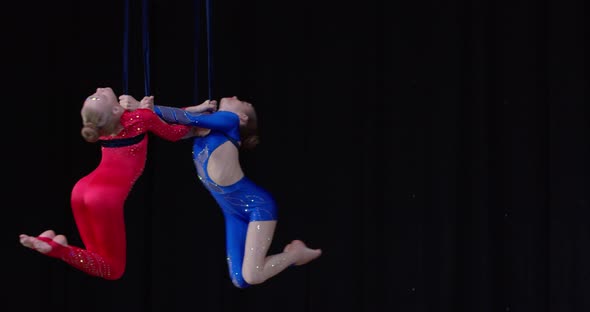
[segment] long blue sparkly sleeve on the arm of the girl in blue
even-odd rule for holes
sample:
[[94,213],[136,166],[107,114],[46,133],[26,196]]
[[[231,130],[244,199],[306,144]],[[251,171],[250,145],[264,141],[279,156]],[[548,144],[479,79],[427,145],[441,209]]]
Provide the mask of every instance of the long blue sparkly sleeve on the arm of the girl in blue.
[[240,125],[238,115],[226,111],[211,114],[190,113],[177,107],[155,105],[154,112],[167,123],[195,126],[226,133],[238,128]]

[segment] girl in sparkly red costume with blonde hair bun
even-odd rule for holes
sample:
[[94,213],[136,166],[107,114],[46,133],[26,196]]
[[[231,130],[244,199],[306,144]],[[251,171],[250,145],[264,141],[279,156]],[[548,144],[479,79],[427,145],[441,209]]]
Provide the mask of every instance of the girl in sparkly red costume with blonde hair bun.
[[[98,167],[80,179],[71,193],[72,212],[86,249],[69,245],[64,235],[53,230],[36,237],[20,235],[23,246],[106,280],[117,280],[125,271],[123,207],[146,163],[147,133],[169,141],[193,136],[192,127],[169,125],[150,109],[125,110],[123,102],[137,103],[129,95],[119,100],[111,88],[98,88],[81,111],[82,137],[99,142],[102,153]],[[152,101],[153,97],[145,97],[142,106]],[[214,110],[214,104],[207,101],[200,107]]]

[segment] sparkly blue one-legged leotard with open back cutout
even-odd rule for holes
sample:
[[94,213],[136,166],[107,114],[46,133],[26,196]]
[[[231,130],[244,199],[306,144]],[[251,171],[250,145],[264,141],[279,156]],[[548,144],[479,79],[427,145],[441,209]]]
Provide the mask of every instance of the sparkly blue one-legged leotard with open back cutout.
[[221,144],[231,141],[236,148],[240,142],[240,120],[238,115],[228,111],[212,114],[189,113],[180,108],[159,106],[154,112],[166,122],[210,129],[209,134],[195,137],[193,161],[197,176],[215,198],[225,218],[226,250],[229,272],[234,285],[240,288],[249,284],[242,277],[242,263],[248,223],[277,219],[277,208],[273,197],[247,177],[238,182],[221,186],[215,183],[207,172],[209,157]]

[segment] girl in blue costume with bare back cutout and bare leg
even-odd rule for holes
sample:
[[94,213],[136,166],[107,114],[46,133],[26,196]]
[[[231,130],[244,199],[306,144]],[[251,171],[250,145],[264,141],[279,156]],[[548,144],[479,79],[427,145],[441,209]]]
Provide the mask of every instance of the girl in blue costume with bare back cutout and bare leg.
[[254,148],[259,142],[252,104],[234,96],[222,98],[213,113],[198,113],[202,109],[196,106],[151,108],[168,123],[209,129],[195,137],[193,160],[199,180],[223,212],[227,262],[236,287],[263,283],[291,265],[303,265],[321,255],[321,249],[308,248],[300,240],[291,241],[281,253],[267,255],[277,224],[276,204],[244,175],[239,161],[241,148]]

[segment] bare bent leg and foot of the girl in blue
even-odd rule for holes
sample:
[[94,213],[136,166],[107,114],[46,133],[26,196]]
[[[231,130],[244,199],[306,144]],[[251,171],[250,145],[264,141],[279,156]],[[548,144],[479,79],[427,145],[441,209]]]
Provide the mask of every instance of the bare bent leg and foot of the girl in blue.
[[252,221],[248,225],[242,274],[248,284],[260,284],[290,265],[303,265],[316,259],[320,249],[310,249],[302,241],[288,244],[279,254],[267,256],[277,221]]

